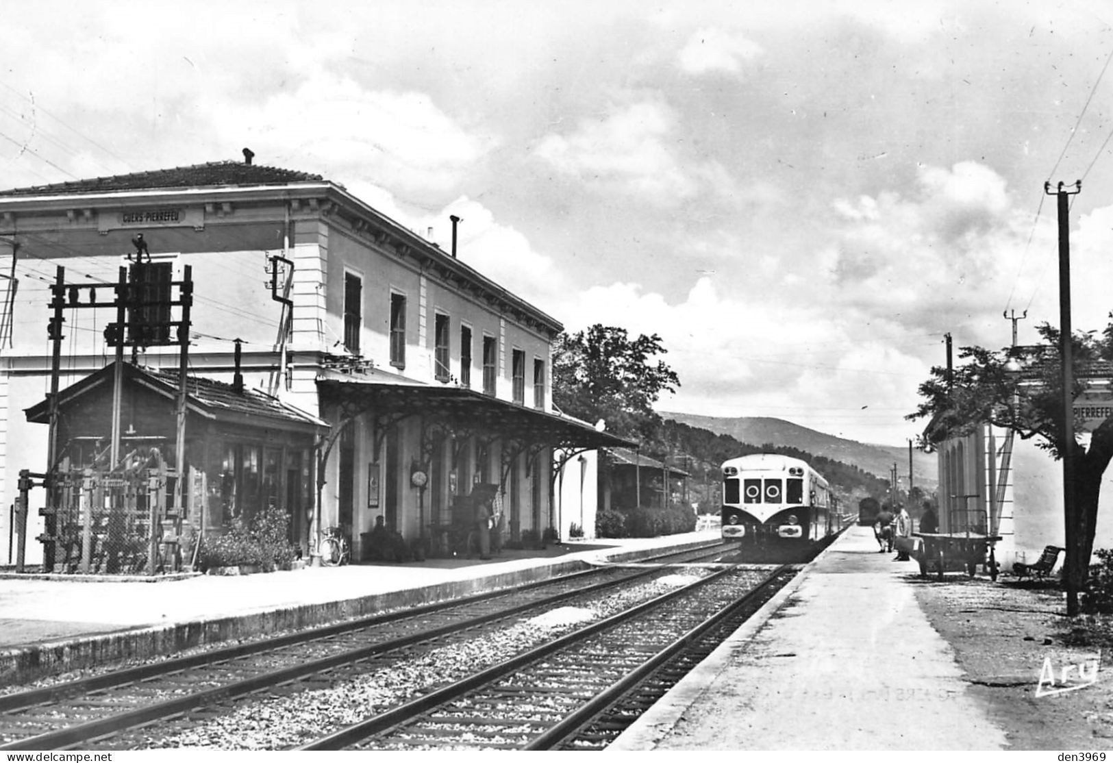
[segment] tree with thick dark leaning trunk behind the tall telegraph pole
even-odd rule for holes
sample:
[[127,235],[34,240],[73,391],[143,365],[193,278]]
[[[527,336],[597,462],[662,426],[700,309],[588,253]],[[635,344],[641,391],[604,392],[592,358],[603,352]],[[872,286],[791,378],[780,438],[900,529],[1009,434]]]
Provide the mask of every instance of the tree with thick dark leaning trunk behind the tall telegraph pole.
[[[959,360],[966,363],[955,368],[949,377],[946,368],[932,368],[932,378],[919,386],[924,400],[916,413],[906,417],[930,417],[924,436],[927,444],[966,434],[988,422],[1012,429],[1022,439],[1034,438],[1054,458],[1062,458],[1066,440],[1063,438],[1060,331],[1047,324],[1038,326],[1037,330],[1043,338],[1041,345],[996,353],[982,347],[963,347]],[[1113,323],[1100,337],[1092,331],[1074,333],[1071,348],[1073,399],[1085,389],[1085,377],[1101,374],[1109,378],[1107,363],[1113,360]],[[1006,368],[1012,357],[1017,357],[1024,368],[1018,382]],[[1064,524],[1074,529],[1068,534],[1073,538],[1068,539],[1064,563],[1066,611],[1072,616],[1078,613],[1078,592],[1085,585],[1094,548],[1102,475],[1113,459],[1113,417],[1093,430],[1086,448],[1077,440],[1080,432],[1080,422],[1075,420],[1072,426],[1074,505],[1064,509]]]

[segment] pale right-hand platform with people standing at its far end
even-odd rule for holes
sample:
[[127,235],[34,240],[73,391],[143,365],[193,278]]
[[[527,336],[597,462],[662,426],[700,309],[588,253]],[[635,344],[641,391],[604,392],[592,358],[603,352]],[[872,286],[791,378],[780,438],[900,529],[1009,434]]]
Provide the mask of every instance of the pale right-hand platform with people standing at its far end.
[[1004,749],[918,573],[850,527],[605,752]]

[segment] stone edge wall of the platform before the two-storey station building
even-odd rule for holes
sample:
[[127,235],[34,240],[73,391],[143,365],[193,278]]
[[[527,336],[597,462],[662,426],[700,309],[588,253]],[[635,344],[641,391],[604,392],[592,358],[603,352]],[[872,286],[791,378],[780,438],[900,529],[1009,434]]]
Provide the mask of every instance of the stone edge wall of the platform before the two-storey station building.
[[[614,553],[599,552],[598,555],[601,561],[621,563],[652,556],[664,549],[681,552],[702,545],[706,545],[706,542],[615,551]],[[264,633],[304,630],[388,610],[510,588],[515,585],[580,572],[598,563],[598,561],[592,563],[582,558],[565,559],[494,575],[447,581],[420,588],[388,591],[337,602],[301,604],[168,625],[131,628],[122,626],[119,631],[111,633],[76,636],[35,646],[4,650],[0,652],[0,687],[29,683],[68,671],[149,660],[197,646],[213,645],[236,638],[250,638]]]

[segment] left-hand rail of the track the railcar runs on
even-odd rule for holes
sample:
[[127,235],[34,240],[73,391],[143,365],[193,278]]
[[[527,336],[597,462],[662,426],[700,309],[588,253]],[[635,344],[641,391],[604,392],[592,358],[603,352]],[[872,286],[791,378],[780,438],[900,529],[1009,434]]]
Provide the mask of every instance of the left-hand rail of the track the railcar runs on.
[[623,610],[610,617],[601,620],[597,623],[592,623],[585,627],[567,633],[563,636],[559,636],[553,641],[536,646],[532,650],[523,652],[519,655],[505,660],[495,665],[491,665],[477,673],[470,676],[461,678],[460,681],[453,682],[447,686],[434,690],[427,694],[418,696],[410,702],[406,702],[397,707],[393,707],[384,713],[380,713],[368,719],[364,719],[357,723],[339,729],[332,734],[322,736],[321,739],[308,742],[304,745],[294,747],[298,751],[315,751],[315,750],[342,750],[348,745],[355,744],[373,734],[386,731],[392,726],[396,726],[410,719],[421,715],[426,711],[430,711],[437,705],[445,704],[453,700],[456,700],[469,692],[483,686],[484,684],[491,683],[504,675],[513,673],[520,667],[529,665],[530,663],[542,660],[555,652],[563,650],[567,646],[575,644],[577,642],[583,641],[584,638],[592,636],[602,631],[607,631],[615,625],[620,625],[629,620],[637,617],[638,615],[653,610],[662,604],[672,601],[679,596],[682,596],[696,588],[707,585],[711,581],[718,579],[723,575],[732,573],[735,566],[727,567],[715,572],[707,577],[700,578],[695,583],[689,583],[688,585],[669,591],[660,596],[651,598],[649,601],[637,604],[628,610]]

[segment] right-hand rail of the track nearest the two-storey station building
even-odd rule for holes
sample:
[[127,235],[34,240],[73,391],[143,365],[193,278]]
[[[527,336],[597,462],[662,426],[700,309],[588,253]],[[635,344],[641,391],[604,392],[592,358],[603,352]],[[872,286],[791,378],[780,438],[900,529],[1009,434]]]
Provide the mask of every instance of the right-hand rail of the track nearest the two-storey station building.
[[[718,544],[716,544],[716,545],[718,545]],[[679,552],[679,553],[674,552],[672,554],[664,554],[664,555],[661,555],[659,557],[653,557],[653,558],[666,558],[668,556],[678,556],[680,554],[691,553],[691,552],[695,552],[695,551],[700,551],[700,549],[687,549],[686,552]],[[550,578],[549,581],[541,581],[541,582],[539,582],[539,584],[544,584],[544,583],[552,584],[552,583],[555,583],[555,582],[568,582],[570,578],[574,579],[574,578],[577,578],[579,576],[584,576],[585,573],[598,573],[600,569],[601,568],[594,568],[594,569],[583,571],[581,573],[573,573],[570,576],[562,576],[560,578]],[[525,603],[515,605],[513,607],[509,607],[506,610],[500,610],[498,612],[487,613],[485,615],[480,615],[477,617],[472,617],[472,618],[460,621],[460,622],[455,622],[455,623],[449,623],[446,625],[442,625],[442,626],[439,626],[439,627],[430,628],[427,631],[421,631],[421,632],[413,633],[413,634],[410,634],[410,635],[406,635],[406,636],[401,636],[401,637],[392,638],[392,640],[388,640],[388,641],[385,641],[385,642],[380,642],[377,644],[371,644],[371,645],[362,646],[362,647],[358,647],[358,648],[355,648],[355,650],[348,650],[348,651],[341,652],[341,653],[337,653],[337,654],[334,654],[334,655],[329,655],[329,656],[326,656],[326,657],[319,657],[317,660],[313,660],[313,661],[309,661],[309,662],[298,663],[298,664],[289,666],[289,667],[285,667],[285,668],[280,668],[280,670],[277,670],[277,671],[272,671],[272,672],[263,673],[263,674],[259,674],[259,675],[256,675],[256,676],[252,676],[249,678],[243,678],[243,680],[239,680],[239,681],[235,681],[235,682],[225,684],[223,686],[216,686],[216,687],[213,687],[213,688],[209,688],[209,690],[205,690],[205,691],[201,691],[201,692],[197,692],[197,693],[194,693],[194,694],[187,694],[185,696],[175,697],[173,700],[167,700],[167,701],[164,701],[164,702],[156,702],[154,704],[149,704],[149,705],[146,705],[146,706],[142,706],[142,707],[137,707],[137,708],[134,708],[134,710],[125,711],[122,713],[117,713],[115,715],[109,715],[109,716],[106,716],[104,719],[97,719],[97,720],[93,720],[93,721],[88,721],[88,722],[85,722],[85,723],[75,724],[72,726],[67,726],[65,729],[59,729],[59,730],[51,731],[51,732],[45,732],[45,733],[37,734],[37,735],[33,735],[33,736],[28,736],[28,737],[24,737],[24,739],[21,739],[21,740],[13,740],[11,742],[7,742],[4,744],[0,744],[0,751],[6,751],[6,750],[52,750],[52,749],[57,750],[57,749],[60,749],[60,747],[75,746],[75,745],[78,745],[78,744],[80,744],[82,742],[88,742],[90,740],[95,740],[95,739],[108,736],[108,735],[111,735],[111,734],[114,734],[116,732],[124,731],[126,729],[130,729],[130,727],[135,727],[135,726],[139,726],[139,725],[144,725],[144,724],[150,723],[152,721],[157,721],[159,719],[165,719],[165,717],[170,717],[170,716],[174,716],[174,715],[179,715],[179,714],[181,714],[184,712],[187,712],[189,710],[194,710],[196,707],[215,704],[215,703],[218,703],[218,702],[221,702],[221,701],[225,701],[225,700],[229,700],[229,698],[239,697],[239,696],[243,696],[245,694],[250,694],[250,693],[259,691],[262,688],[266,688],[268,686],[274,686],[274,685],[277,685],[277,684],[287,683],[289,681],[296,681],[296,680],[303,678],[303,677],[305,677],[307,675],[312,675],[314,673],[321,673],[321,672],[327,671],[329,668],[337,667],[339,665],[358,662],[361,660],[365,660],[367,657],[372,657],[372,656],[375,656],[377,654],[383,654],[383,653],[386,653],[386,652],[391,652],[391,651],[394,651],[394,650],[397,650],[397,648],[402,648],[404,646],[410,646],[412,644],[421,643],[423,641],[430,641],[430,640],[433,640],[433,638],[439,638],[439,637],[442,637],[442,636],[445,636],[445,635],[451,635],[452,633],[456,633],[459,631],[463,631],[463,630],[466,630],[466,628],[475,627],[475,626],[479,626],[479,625],[484,625],[484,624],[493,622],[493,621],[502,620],[502,618],[505,618],[505,617],[519,614],[519,613],[521,613],[523,611],[536,608],[539,606],[549,606],[551,604],[559,603],[559,602],[568,600],[568,598],[572,598],[572,597],[575,597],[575,596],[582,596],[584,594],[590,594],[590,593],[595,592],[595,591],[601,591],[601,589],[605,589],[605,588],[609,588],[609,587],[614,587],[617,585],[622,585],[623,583],[629,583],[630,581],[636,581],[636,579],[638,579],[640,577],[646,577],[646,576],[652,575],[656,572],[659,572],[659,571],[656,569],[656,568],[649,568],[649,569],[644,569],[644,571],[636,572],[636,573],[633,573],[631,575],[628,575],[626,577],[621,577],[619,579],[603,581],[603,582],[597,583],[594,585],[589,585],[587,587],[579,588],[579,589],[575,589],[575,591],[563,592],[563,593],[558,594],[555,596],[549,596],[549,597],[545,597],[545,598],[542,598],[542,600],[535,600],[535,601],[532,601],[532,602],[525,602]],[[726,572],[726,571],[723,571],[723,572]],[[716,574],[722,574],[722,573],[716,573]],[[711,577],[713,577],[713,576],[715,575],[712,575]],[[536,585],[539,585],[539,584],[528,584],[522,589],[529,589],[531,587],[536,587]],[[509,592],[509,593],[514,593],[514,592],[518,592],[518,591],[519,589],[515,589],[515,591]],[[508,593],[508,589],[502,589],[502,591],[496,592],[496,593],[504,594],[504,593]],[[486,597],[487,596],[485,594],[481,594],[479,596],[479,598],[486,598]],[[451,600],[451,601],[453,601],[453,604],[459,604],[460,603],[460,600]],[[470,603],[474,603],[474,602],[470,602]],[[430,605],[430,606],[435,606],[435,605]],[[397,615],[397,614],[398,613],[392,613],[387,617],[396,620],[397,617],[395,617],[395,615]],[[404,616],[408,616],[410,614],[412,614],[412,612],[405,612],[405,613],[403,613]],[[342,625],[346,625],[346,624],[342,624]],[[333,627],[333,626],[328,626],[328,627]],[[346,630],[352,630],[352,628],[346,628]],[[296,634],[294,634],[294,635],[296,635]],[[285,641],[287,638],[289,638],[289,636],[279,637],[279,640],[282,640],[282,641]],[[266,644],[267,642],[260,642],[260,643]],[[295,643],[296,643],[296,641],[295,641]],[[284,645],[286,645],[286,644],[284,644]],[[254,646],[254,645],[249,645],[249,646]],[[230,650],[230,651],[235,651],[235,650]],[[258,650],[258,651],[265,651],[265,650]],[[184,660],[189,660],[189,657],[186,657]],[[208,662],[225,662],[225,661],[216,660],[216,661],[208,661]],[[159,666],[162,666],[164,670],[160,671],[157,675],[180,672],[180,670],[181,670],[181,668],[165,670],[165,666],[168,663],[159,663],[158,664]],[[134,670],[141,670],[141,668],[134,668]],[[150,676],[148,676],[148,678]],[[116,685],[121,685],[122,686],[122,685],[128,685],[128,684],[131,684],[131,683],[136,683],[136,681],[124,682],[124,683],[116,684]],[[38,691],[38,690],[32,690],[32,691]]]

